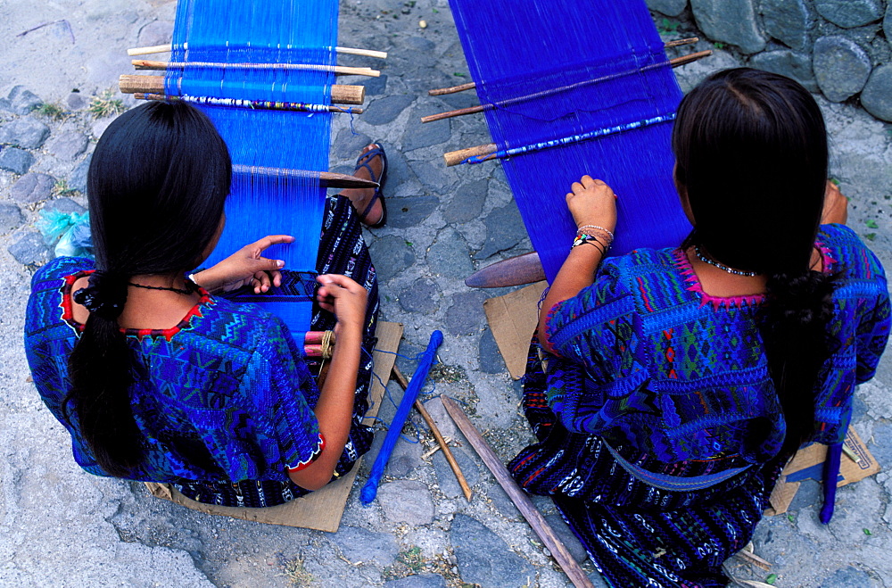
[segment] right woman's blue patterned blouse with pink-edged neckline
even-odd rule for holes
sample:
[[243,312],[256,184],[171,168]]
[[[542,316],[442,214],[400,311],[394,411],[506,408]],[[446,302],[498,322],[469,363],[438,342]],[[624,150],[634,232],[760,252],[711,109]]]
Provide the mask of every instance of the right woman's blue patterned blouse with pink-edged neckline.
[[[841,279],[830,322],[838,349],[820,377],[815,440],[839,443],[854,386],[873,376],[885,349],[889,297],[880,261],[851,229],[822,226],[818,245],[824,271]],[[549,341],[564,359],[549,368],[546,400],[568,431],[598,434],[651,468],[763,463],[786,430],[756,326],[763,300],[706,294],[678,249],[604,261],[592,286],[550,312]]]

